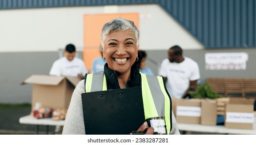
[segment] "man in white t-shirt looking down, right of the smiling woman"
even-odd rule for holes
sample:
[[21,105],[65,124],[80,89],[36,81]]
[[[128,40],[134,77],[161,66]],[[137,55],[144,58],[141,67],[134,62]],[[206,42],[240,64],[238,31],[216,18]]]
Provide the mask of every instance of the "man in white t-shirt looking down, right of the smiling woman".
[[182,57],[182,49],[173,46],[168,50],[168,59],[163,60],[159,76],[166,81],[166,88],[171,97],[186,98],[188,91],[197,88],[200,79],[198,64],[188,57]]

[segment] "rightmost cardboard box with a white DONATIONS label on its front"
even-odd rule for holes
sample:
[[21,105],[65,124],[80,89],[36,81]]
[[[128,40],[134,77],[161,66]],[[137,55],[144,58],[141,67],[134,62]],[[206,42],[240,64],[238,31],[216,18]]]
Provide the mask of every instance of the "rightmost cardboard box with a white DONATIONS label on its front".
[[253,129],[253,99],[230,98],[226,105],[225,127]]

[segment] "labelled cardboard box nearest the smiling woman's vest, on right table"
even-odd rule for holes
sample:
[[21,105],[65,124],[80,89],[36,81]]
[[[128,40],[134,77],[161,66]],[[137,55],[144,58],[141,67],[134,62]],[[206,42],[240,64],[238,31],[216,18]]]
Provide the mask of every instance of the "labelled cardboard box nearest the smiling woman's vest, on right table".
[[176,120],[178,123],[199,124],[201,117],[200,99],[179,99]]

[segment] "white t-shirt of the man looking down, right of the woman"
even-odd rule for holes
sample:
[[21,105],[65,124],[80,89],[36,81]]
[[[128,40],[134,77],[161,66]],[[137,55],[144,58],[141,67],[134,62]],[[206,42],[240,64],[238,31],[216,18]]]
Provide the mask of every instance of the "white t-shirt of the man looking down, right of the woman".
[[198,64],[188,57],[181,63],[163,60],[159,76],[167,77],[166,88],[171,97],[181,98],[190,86],[190,81],[200,79]]

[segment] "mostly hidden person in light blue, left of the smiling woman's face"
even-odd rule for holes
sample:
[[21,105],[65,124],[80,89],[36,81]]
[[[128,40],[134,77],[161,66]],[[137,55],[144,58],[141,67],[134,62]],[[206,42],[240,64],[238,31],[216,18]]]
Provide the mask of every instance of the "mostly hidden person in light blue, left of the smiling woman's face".
[[101,46],[100,46],[100,54],[101,54],[101,56],[94,59],[92,62],[91,73],[104,70],[104,65],[105,65],[106,61],[103,61],[103,49]]

